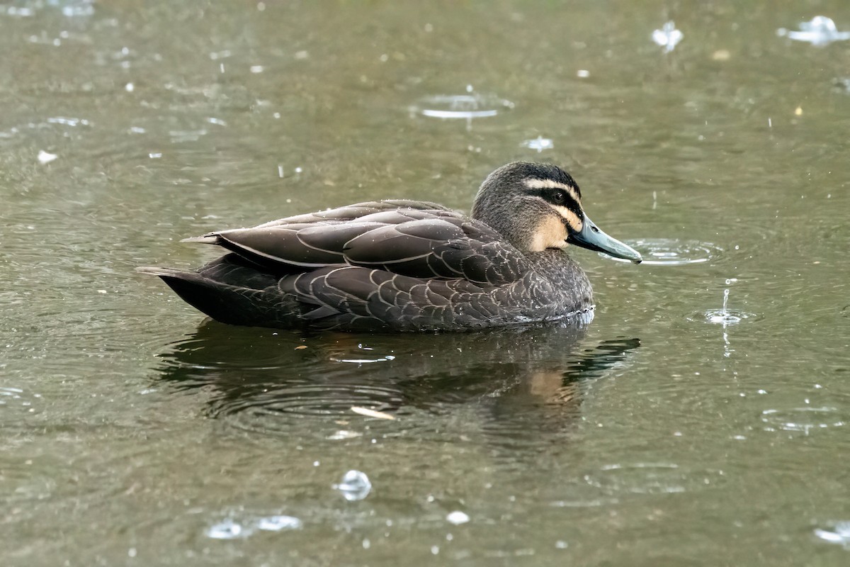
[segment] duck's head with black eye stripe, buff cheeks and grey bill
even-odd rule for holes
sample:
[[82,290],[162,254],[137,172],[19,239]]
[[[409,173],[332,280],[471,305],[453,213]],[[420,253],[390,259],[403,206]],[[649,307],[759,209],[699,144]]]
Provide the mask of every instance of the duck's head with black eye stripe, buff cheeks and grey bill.
[[545,163],[513,162],[484,179],[473,218],[497,230],[523,252],[568,244],[639,264],[640,253],[611,238],[581,208],[581,191],[570,173]]

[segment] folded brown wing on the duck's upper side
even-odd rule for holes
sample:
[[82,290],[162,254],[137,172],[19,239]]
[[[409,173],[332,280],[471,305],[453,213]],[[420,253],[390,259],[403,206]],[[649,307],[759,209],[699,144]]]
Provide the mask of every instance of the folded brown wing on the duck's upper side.
[[422,201],[358,203],[186,241],[277,269],[348,264],[493,286],[528,270],[524,255],[486,224]]

